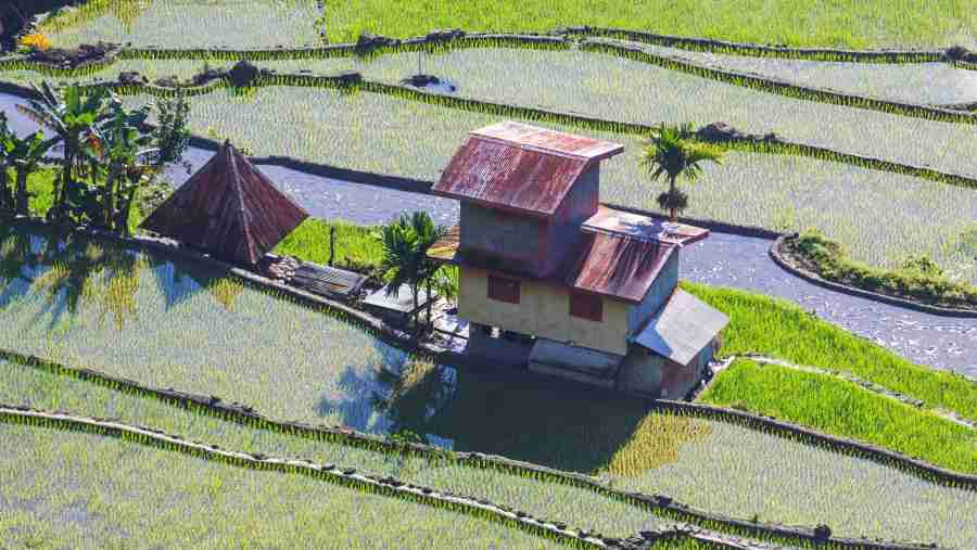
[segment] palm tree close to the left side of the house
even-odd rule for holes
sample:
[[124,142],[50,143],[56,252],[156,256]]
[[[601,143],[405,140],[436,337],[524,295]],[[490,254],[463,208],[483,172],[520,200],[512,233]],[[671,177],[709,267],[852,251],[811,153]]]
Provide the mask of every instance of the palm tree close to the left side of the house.
[[430,293],[432,284],[439,283],[441,266],[428,258],[428,248],[447,233],[447,229],[435,226],[426,212],[413,215],[402,214],[399,218],[381,230],[383,260],[380,272],[386,277],[386,295],[394,296],[402,284],[410,286],[414,294],[414,327],[417,335],[417,293],[423,284],[428,289],[428,322],[431,320]]

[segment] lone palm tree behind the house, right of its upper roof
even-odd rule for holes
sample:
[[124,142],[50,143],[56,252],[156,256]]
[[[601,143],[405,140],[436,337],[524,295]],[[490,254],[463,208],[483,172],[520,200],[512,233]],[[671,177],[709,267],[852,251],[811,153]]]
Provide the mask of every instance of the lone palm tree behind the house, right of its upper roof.
[[709,161],[722,164],[722,152],[687,141],[691,133],[690,124],[681,127],[661,125],[656,128],[651,144],[642,155],[642,166],[650,174],[651,181],[658,181],[662,176],[669,181],[669,190],[658,195],[658,205],[663,210],[669,210],[672,223],[678,221],[678,213],[688,205],[688,195],[676,187],[678,178],[693,183],[702,175],[701,163]]

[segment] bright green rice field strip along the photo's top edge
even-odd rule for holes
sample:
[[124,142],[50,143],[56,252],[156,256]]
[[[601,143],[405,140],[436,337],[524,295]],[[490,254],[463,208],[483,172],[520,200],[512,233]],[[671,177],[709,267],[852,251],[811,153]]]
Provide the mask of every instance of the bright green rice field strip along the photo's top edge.
[[323,23],[329,39],[342,42],[356,41],[365,30],[405,37],[432,28],[546,31],[591,25],[746,42],[878,48],[961,40],[965,29],[977,26],[972,8],[966,0],[733,0],[705,5],[694,0],[500,0],[492,10],[452,2],[404,2],[391,10],[389,0],[328,0]]

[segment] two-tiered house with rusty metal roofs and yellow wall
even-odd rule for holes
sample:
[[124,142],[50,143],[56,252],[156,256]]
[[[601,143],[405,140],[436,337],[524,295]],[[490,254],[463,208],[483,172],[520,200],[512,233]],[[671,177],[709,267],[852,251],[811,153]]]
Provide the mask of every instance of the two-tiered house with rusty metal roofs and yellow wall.
[[429,255],[459,267],[472,344],[497,327],[535,337],[533,371],[681,397],[728,319],[676,287],[682,246],[708,231],[599,205],[600,161],[623,150],[510,121],[472,131],[433,188],[461,201],[459,225]]

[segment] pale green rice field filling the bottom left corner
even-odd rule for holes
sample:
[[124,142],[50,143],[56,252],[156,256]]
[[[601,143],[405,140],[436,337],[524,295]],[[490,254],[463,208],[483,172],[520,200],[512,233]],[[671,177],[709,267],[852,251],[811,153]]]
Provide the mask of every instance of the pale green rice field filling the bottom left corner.
[[490,521],[134,442],[0,424],[13,548],[567,548]]

